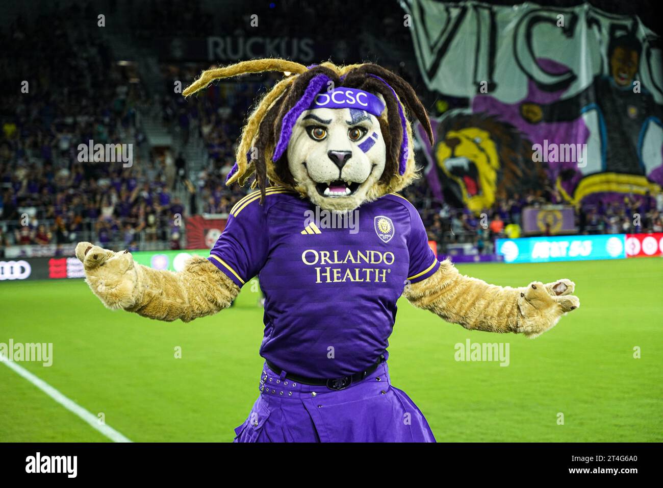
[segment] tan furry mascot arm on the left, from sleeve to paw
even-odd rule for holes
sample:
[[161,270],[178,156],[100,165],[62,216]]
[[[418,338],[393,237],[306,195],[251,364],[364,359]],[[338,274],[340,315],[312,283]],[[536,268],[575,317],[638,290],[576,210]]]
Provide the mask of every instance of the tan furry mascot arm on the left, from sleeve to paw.
[[190,322],[229,307],[239,293],[225,274],[194,256],[184,270],[153,270],[134,262],[131,253],[113,252],[79,242],[76,257],[86,282],[109,309],[124,309],[151,319]]

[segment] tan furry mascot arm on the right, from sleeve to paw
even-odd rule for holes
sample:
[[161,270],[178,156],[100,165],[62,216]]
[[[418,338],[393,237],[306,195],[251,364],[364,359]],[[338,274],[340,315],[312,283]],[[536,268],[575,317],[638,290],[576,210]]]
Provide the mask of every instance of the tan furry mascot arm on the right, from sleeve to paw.
[[465,329],[516,332],[534,338],[552,329],[566,312],[580,306],[571,295],[575,284],[558,280],[526,287],[489,285],[461,275],[450,260],[426,280],[405,287],[404,295],[415,307],[430,310]]

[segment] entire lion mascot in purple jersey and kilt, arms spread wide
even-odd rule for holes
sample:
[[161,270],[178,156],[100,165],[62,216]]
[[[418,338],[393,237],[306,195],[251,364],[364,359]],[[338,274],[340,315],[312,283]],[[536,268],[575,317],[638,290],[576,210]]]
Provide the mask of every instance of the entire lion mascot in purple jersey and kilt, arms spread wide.
[[[188,322],[229,307],[259,277],[265,365],[236,442],[434,442],[389,378],[398,297],[466,329],[536,337],[579,306],[574,284],[495,286],[436,259],[416,208],[396,193],[417,177],[408,116],[432,142],[430,122],[385,68],[250,60],[203,72],[184,95],[266,71],[284,78],[249,116],[226,181],[250,179],[257,191],[233,206],[210,256],[174,273],[80,242],[86,281],[109,309]],[[325,226],[307,220],[312,211],[352,213],[357,225]]]

